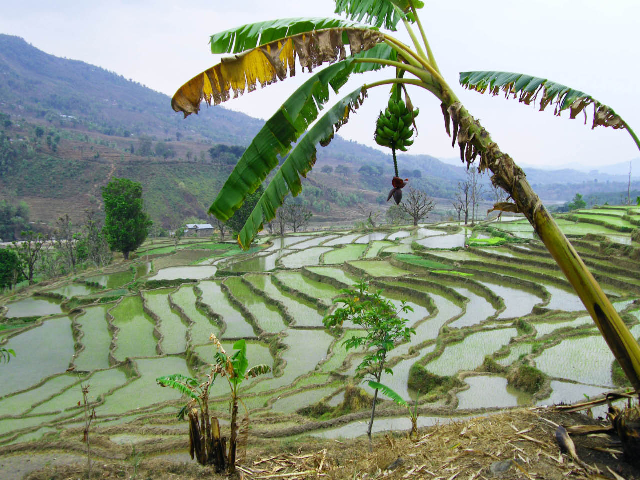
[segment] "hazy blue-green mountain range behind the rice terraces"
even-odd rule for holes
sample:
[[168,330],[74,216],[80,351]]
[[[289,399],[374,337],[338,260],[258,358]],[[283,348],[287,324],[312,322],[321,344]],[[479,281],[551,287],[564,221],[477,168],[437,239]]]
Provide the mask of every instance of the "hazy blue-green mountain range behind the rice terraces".
[[[111,175],[126,176],[143,183],[154,220],[164,225],[176,218],[205,220],[237,161],[223,149],[209,150],[218,144],[246,147],[264,122],[221,106],[204,107],[199,118],[184,121],[170,105],[166,95],[114,72],[0,35],[0,113],[6,120],[0,132],[8,139],[0,142],[6,150],[0,151],[0,199],[26,200],[35,220],[51,222],[65,212],[79,218],[84,209],[100,207],[100,187]],[[324,165],[347,166],[350,173],[319,172]],[[372,176],[369,166],[378,167],[380,175]],[[409,154],[403,154],[403,167],[413,186],[442,199],[454,197],[467,170],[460,161]],[[626,190],[628,164],[597,174],[526,172],[543,199],[564,201],[577,191]],[[316,168],[305,180],[324,192],[309,199],[314,216],[334,221],[353,214],[358,203],[386,205],[381,197],[386,200],[391,176],[390,153],[336,136],[328,147],[319,147]],[[488,185],[488,177],[484,182]]]

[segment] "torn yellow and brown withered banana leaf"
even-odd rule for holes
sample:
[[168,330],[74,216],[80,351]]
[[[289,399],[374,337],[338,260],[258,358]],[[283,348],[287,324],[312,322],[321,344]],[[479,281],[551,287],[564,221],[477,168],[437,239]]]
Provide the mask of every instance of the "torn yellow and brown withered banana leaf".
[[242,54],[223,58],[221,63],[205,70],[182,85],[173,95],[172,108],[184,116],[198,113],[205,100],[218,105],[253,92],[259,83],[262,88],[296,74],[296,58],[303,71],[311,72],[323,63],[347,58],[345,44],[351,55],[371,49],[384,41],[384,35],[369,28],[332,28],[280,38]]

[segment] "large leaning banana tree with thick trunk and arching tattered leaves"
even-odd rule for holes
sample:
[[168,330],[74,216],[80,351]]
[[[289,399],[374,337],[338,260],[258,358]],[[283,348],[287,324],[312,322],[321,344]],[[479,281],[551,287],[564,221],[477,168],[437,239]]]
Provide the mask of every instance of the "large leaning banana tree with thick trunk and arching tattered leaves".
[[[239,244],[248,248],[264,223],[274,218],[285,196],[301,192],[301,177],[306,177],[316,161],[316,145],[330,143],[335,131],[348,122],[369,90],[390,86],[390,97],[394,100],[404,97],[405,106],[410,102],[411,88],[427,90],[440,100],[445,129],[453,138],[452,147],[458,142],[461,160],[468,166],[477,161],[480,172],[492,172],[493,185],[504,189],[513,200],[494,208],[522,212],[527,217],[577,291],[628,379],[640,390],[640,347],[527,182],[522,168],[500,151],[489,132],[470,115],[445,81],[417,12],[423,7],[422,2],[335,0],[335,4],[336,13],[346,14],[348,20],[275,20],[211,36],[213,53],[234,56],[193,77],[173,97],[173,109],[187,116],[198,112],[202,100],[220,104],[230,99],[232,93],[237,96],[246,90],[252,92],[257,83],[264,88],[292,76],[296,60],[303,71],[307,68],[312,73],[253,139],[209,212],[221,221],[228,220],[244,198],[278,166],[280,158],[286,157],[238,236]],[[400,23],[412,46],[382,30],[396,31]],[[314,73],[324,64],[328,67]],[[389,68],[393,73],[387,79],[362,84],[319,116],[329,101],[330,88],[338,93],[350,76],[380,68]],[[461,75],[461,82],[479,92],[490,90],[495,94],[504,90],[508,96],[518,95],[525,103],[539,100],[542,108],[552,104],[558,115],[570,109],[572,118],[579,113],[587,115],[586,107],[593,106],[593,127],[625,129],[640,148],[636,135],[620,116],[577,90],[537,77],[500,72],[468,72]],[[394,187],[398,188],[396,184]]]

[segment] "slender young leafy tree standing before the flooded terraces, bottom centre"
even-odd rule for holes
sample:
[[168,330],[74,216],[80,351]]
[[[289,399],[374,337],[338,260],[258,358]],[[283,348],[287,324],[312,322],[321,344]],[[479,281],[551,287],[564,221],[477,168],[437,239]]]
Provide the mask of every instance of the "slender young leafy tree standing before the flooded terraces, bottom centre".
[[[415,330],[406,326],[408,320],[398,316],[400,313],[413,312],[413,308],[403,301],[401,307],[396,309],[391,301],[383,298],[381,290],[371,292],[369,286],[369,282],[360,280],[354,288],[340,290],[340,298],[333,300],[333,303],[342,303],[344,307],[337,308],[332,315],[325,317],[323,323],[332,330],[342,329],[345,322],[352,322],[364,329],[366,335],[353,335],[342,344],[347,351],[353,348],[365,351],[362,363],[356,367],[356,378],[369,376],[380,383],[384,372],[394,373],[385,366],[389,351],[395,348],[397,342],[408,342],[411,335],[415,335]],[[371,421],[367,429],[369,437],[377,400],[378,388],[373,396]]]

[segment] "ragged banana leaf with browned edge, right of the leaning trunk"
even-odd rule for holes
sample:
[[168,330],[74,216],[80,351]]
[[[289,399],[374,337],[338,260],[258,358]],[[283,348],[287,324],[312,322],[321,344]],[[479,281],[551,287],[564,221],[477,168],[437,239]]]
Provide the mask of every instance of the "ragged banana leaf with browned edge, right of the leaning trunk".
[[[591,129],[602,125],[613,129],[628,130],[625,121],[611,107],[598,102],[587,93],[573,90],[573,88],[545,78],[511,72],[461,72],[460,84],[468,90],[476,90],[479,93],[489,90],[494,96],[499,95],[502,91],[506,98],[513,95],[514,98],[518,98],[521,103],[527,105],[538,100],[540,111],[552,104],[556,108],[554,114],[557,116],[560,116],[566,109],[570,109],[570,118],[575,118],[580,112],[584,112],[585,125],[587,123],[586,107],[593,105],[593,126]],[[540,95],[540,93],[542,94]],[[632,134],[632,136],[634,135]]]

